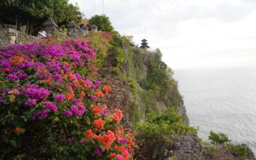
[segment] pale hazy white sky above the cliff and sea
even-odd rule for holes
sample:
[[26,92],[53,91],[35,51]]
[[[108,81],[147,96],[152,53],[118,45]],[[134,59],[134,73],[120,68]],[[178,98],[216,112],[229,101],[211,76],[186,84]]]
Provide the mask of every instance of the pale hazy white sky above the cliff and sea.
[[[103,0],[70,0],[87,18]],[[122,35],[146,38],[172,68],[256,65],[255,0],[104,0]]]

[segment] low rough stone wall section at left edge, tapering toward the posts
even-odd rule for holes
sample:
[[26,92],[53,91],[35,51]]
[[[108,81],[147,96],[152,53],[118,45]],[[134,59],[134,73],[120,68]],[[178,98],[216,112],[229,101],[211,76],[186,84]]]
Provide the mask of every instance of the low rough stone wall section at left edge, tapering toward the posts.
[[35,41],[41,40],[12,28],[0,28],[0,47],[10,44],[28,44]]

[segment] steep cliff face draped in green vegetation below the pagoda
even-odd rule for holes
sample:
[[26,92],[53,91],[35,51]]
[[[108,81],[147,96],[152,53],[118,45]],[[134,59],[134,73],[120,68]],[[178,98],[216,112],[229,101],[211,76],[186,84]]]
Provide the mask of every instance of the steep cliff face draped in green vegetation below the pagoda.
[[[122,74],[131,84],[131,122],[143,122],[145,115],[151,111],[162,113],[164,109],[174,107],[183,117],[184,123],[189,124],[177,82],[172,77],[172,70],[161,60],[161,52],[124,45],[124,54]],[[162,69],[168,75],[163,75]],[[166,82],[159,80],[161,78],[166,79]],[[158,83],[156,90],[152,85],[154,83]]]

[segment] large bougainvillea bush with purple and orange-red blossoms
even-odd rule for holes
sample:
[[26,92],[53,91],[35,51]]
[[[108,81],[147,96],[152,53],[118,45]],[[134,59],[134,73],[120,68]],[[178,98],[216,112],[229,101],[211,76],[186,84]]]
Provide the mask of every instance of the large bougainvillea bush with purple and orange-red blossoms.
[[111,86],[92,77],[96,56],[81,40],[0,49],[1,159],[132,159],[122,111],[102,104]]

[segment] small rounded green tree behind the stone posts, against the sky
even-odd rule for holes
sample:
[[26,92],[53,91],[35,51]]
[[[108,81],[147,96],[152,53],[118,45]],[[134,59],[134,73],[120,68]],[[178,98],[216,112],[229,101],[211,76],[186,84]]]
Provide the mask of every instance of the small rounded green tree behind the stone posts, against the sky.
[[95,24],[100,31],[113,31],[113,26],[106,15],[94,15],[89,19],[90,24]]

